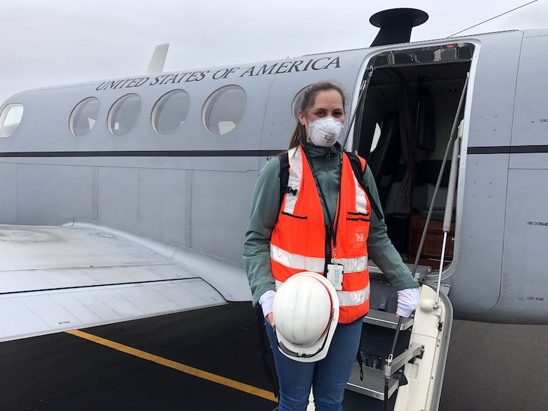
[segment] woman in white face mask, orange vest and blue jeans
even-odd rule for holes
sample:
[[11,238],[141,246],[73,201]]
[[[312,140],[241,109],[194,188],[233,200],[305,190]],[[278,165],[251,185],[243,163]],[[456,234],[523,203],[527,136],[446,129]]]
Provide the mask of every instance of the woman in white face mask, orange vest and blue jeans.
[[[306,410],[311,388],[315,410],[342,410],[363,316],[369,309],[367,256],[398,290],[398,315],[407,317],[418,305],[417,280],[386,235],[384,220],[371,213],[369,198],[379,204],[371,171],[366,167],[363,176],[365,186],[371,189],[370,197],[366,197],[337,143],[344,124],[344,107],[344,91],[337,84],[324,81],[308,86],[289,144],[288,185],[292,186],[285,190],[282,207],[278,157],[268,161],[259,174],[252,197],[243,256],[253,304],[261,305],[273,348],[280,382],[279,411]],[[364,164],[363,159],[360,161]],[[307,261],[319,260],[321,267],[313,271],[328,280],[330,267],[340,266],[337,261],[344,262],[342,285],[334,284],[341,289],[337,292],[339,324],[327,356],[311,363],[283,355],[275,335],[272,306],[276,282],[280,284],[294,273],[310,270],[310,265],[300,267],[296,262],[299,259],[285,258],[295,255]],[[365,266],[360,261],[365,261]],[[353,301],[341,301],[343,294],[351,295]]]

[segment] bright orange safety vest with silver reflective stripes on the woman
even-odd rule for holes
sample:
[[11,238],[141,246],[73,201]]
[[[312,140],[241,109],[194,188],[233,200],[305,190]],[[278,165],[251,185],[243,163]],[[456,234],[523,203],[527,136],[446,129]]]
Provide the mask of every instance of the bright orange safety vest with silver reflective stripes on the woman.
[[[339,322],[353,322],[369,311],[367,235],[371,207],[367,195],[355,178],[348,156],[343,155],[339,211],[334,218],[337,230],[334,255],[332,235],[326,230],[322,202],[304,150],[299,145],[288,154],[290,190],[282,200],[270,238],[272,273],[279,285],[301,271],[324,275],[327,263],[332,260],[342,264],[342,291],[337,291]],[[365,160],[359,158],[363,169]]]

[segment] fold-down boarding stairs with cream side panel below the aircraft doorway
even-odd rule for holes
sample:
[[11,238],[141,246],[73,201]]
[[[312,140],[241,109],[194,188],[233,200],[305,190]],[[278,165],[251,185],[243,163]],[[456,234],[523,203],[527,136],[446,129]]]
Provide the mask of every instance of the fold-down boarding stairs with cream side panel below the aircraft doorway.
[[[430,267],[418,266],[416,277],[422,280],[430,271]],[[370,311],[363,320],[360,341],[363,365],[360,366],[356,361],[346,387],[348,391],[360,396],[346,393],[344,409],[348,410],[355,409],[349,404],[353,401],[359,403],[359,408],[363,410],[385,409],[384,367],[396,337],[397,293],[374,266],[370,266],[370,283]],[[421,286],[420,297],[421,303],[414,317],[402,319],[393,359],[386,369],[390,375],[389,410],[431,411],[438,407],[452,324],[452,307],[442,294],[443,301],[440,301],[438,308],[433,308],[436,290],[429,285]],[[363,372],[363,379],[360,379],[360,371]]]

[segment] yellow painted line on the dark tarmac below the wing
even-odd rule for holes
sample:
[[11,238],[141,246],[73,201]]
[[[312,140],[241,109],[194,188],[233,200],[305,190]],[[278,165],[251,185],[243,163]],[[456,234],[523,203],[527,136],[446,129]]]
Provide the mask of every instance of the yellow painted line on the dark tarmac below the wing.
[[217,384],[221,384],[224,386],[228,386],[232,389],[237,389],[239,391],[244,391],[244,393],[252,394],[253,396],[265,398],[266,400],[270,400],[273,402],[278,402],[276,398],[274,397],[274,394],[270,391],[266,391],[263,389],[259,389],[255,386],[247,385],[242,382],[234,381],[233,379],[228,379],[225,377],[221,377],[220,375],[211,374],[211,372],[202,371],[194,367],[189,367],[188,365],[184,365],[181,363],[176,363],[175,361],[168,360],[167,358],[159,357],[158,355],[150,354],[145,351],[138,350],[136,348],[132,348],[130,346],[124,346],[124,344],[119,344],[115,341],[110,341],[108,339],[104,339],[102,337],[97,337],[93,334],[88,334],[87,332],[83,332],[80,330],[72,330],[72,331],[66,331],[67,334],[72,334],[76,337],[80,337],[83,339],[87,339],[89,341],[93,341],[94,343],[101,344],[103,346],[107,346],[110,348],[114,348],[117,351],[122,351],[124,353],[127,353],[129,355],[134,355],[139,358],[143,358],[144,360],[152,361],[152,363],[157,363],[160,365],[164,365],[165,367],[173,368],[174,370],[178,370],[181,372],[185,372],[185,374],[193,375],[194,377],[207,379],[207,381],[212,381]]

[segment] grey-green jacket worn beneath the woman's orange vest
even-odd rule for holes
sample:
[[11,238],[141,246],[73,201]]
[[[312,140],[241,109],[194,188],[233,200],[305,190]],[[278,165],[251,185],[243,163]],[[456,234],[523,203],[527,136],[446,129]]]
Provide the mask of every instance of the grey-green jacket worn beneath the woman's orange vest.
[[[332,218],[335,215],[340,185],[341,145],[332,148],[306,144],[306,154],[311,159],[318,183],[325,194],[327,207]],[[369,167],[365,168],[365,185],[369,185],[371,195],[380,207],[379,193]],[[259,173],[252,196],[251,216],[245,233],[243,257],[249,287],[256,306],[268,290],[275,290],[275,282],[270,268],[270,235],[274,229],[280,209],[280,160],[270,159]],[[324,210],[327,222],[327,213]],[[412,278],[409,268],[403,263],[386,234],[386,223],[379,220],[374,212],[370,216],[370,230],[367,238],[369,258],[377,264],[386,278],[396,289],[416,288],[419,283]]]

